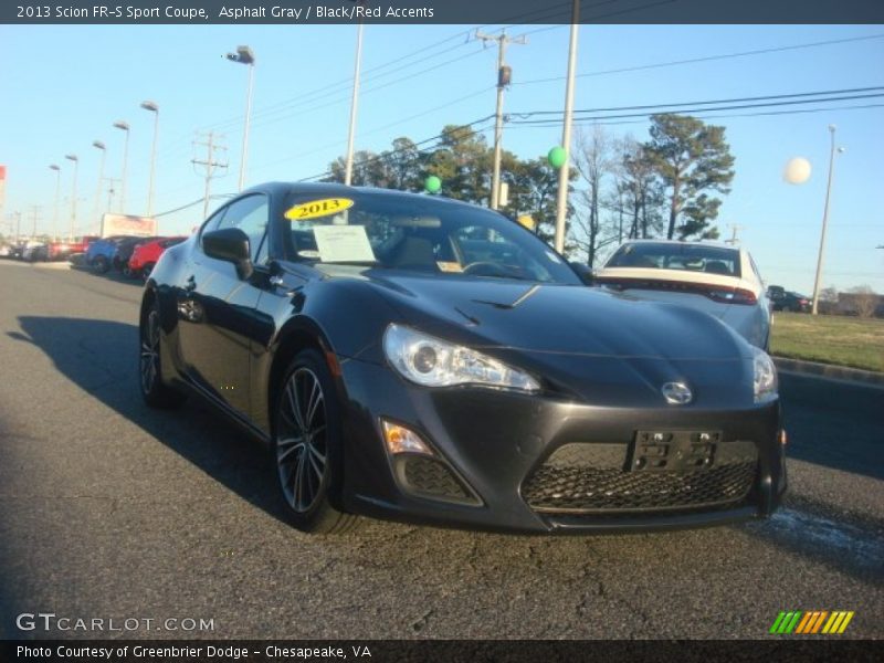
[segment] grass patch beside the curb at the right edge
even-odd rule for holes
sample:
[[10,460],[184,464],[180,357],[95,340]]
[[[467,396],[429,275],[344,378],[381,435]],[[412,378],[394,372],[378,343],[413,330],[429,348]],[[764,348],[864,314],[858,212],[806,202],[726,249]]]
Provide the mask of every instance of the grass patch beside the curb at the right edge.
[[884,320],[778,312],[770,354],[884,372]]

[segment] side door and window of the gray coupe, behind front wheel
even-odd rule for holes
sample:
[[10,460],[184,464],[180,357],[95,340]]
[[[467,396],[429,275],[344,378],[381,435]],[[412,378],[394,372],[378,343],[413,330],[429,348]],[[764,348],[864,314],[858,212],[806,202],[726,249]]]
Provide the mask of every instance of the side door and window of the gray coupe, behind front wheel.
[[250,240],[252,261],[265,262],[269,199],[263,193],[239,198],[200,233],[186,270],[179,302],[179,343],[190,379],[233,411],[250,418],[250,343],[260,290],[240,278],[236,267],[208,256],[202,234],[239,228]]

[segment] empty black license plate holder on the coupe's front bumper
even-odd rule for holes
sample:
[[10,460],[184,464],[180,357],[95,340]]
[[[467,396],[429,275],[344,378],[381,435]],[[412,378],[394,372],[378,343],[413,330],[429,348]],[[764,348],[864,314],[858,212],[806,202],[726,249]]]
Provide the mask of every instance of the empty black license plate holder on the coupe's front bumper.
[[698,472],[715,466],[722,431],[635,431],[628,472]]

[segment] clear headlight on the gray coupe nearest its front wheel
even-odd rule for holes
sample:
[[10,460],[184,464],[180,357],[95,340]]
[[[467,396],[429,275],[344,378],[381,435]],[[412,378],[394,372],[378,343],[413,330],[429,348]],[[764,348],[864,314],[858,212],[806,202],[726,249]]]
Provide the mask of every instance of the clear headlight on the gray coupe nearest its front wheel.
[[470,348],[400,325],[387,327],[383,351],[404,378],[424,387],[484,385],[535,392],[529,375]]

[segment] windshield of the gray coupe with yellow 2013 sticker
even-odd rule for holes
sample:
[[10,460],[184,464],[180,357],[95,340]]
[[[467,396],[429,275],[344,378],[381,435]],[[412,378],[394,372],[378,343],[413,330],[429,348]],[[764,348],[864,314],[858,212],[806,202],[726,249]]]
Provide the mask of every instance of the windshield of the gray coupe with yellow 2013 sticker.
[[286,206],[291,260],[366,264],[444,277],[463,275],[579,285],[543,241],[481,208],[430,197],[348,193],[292,196]]

